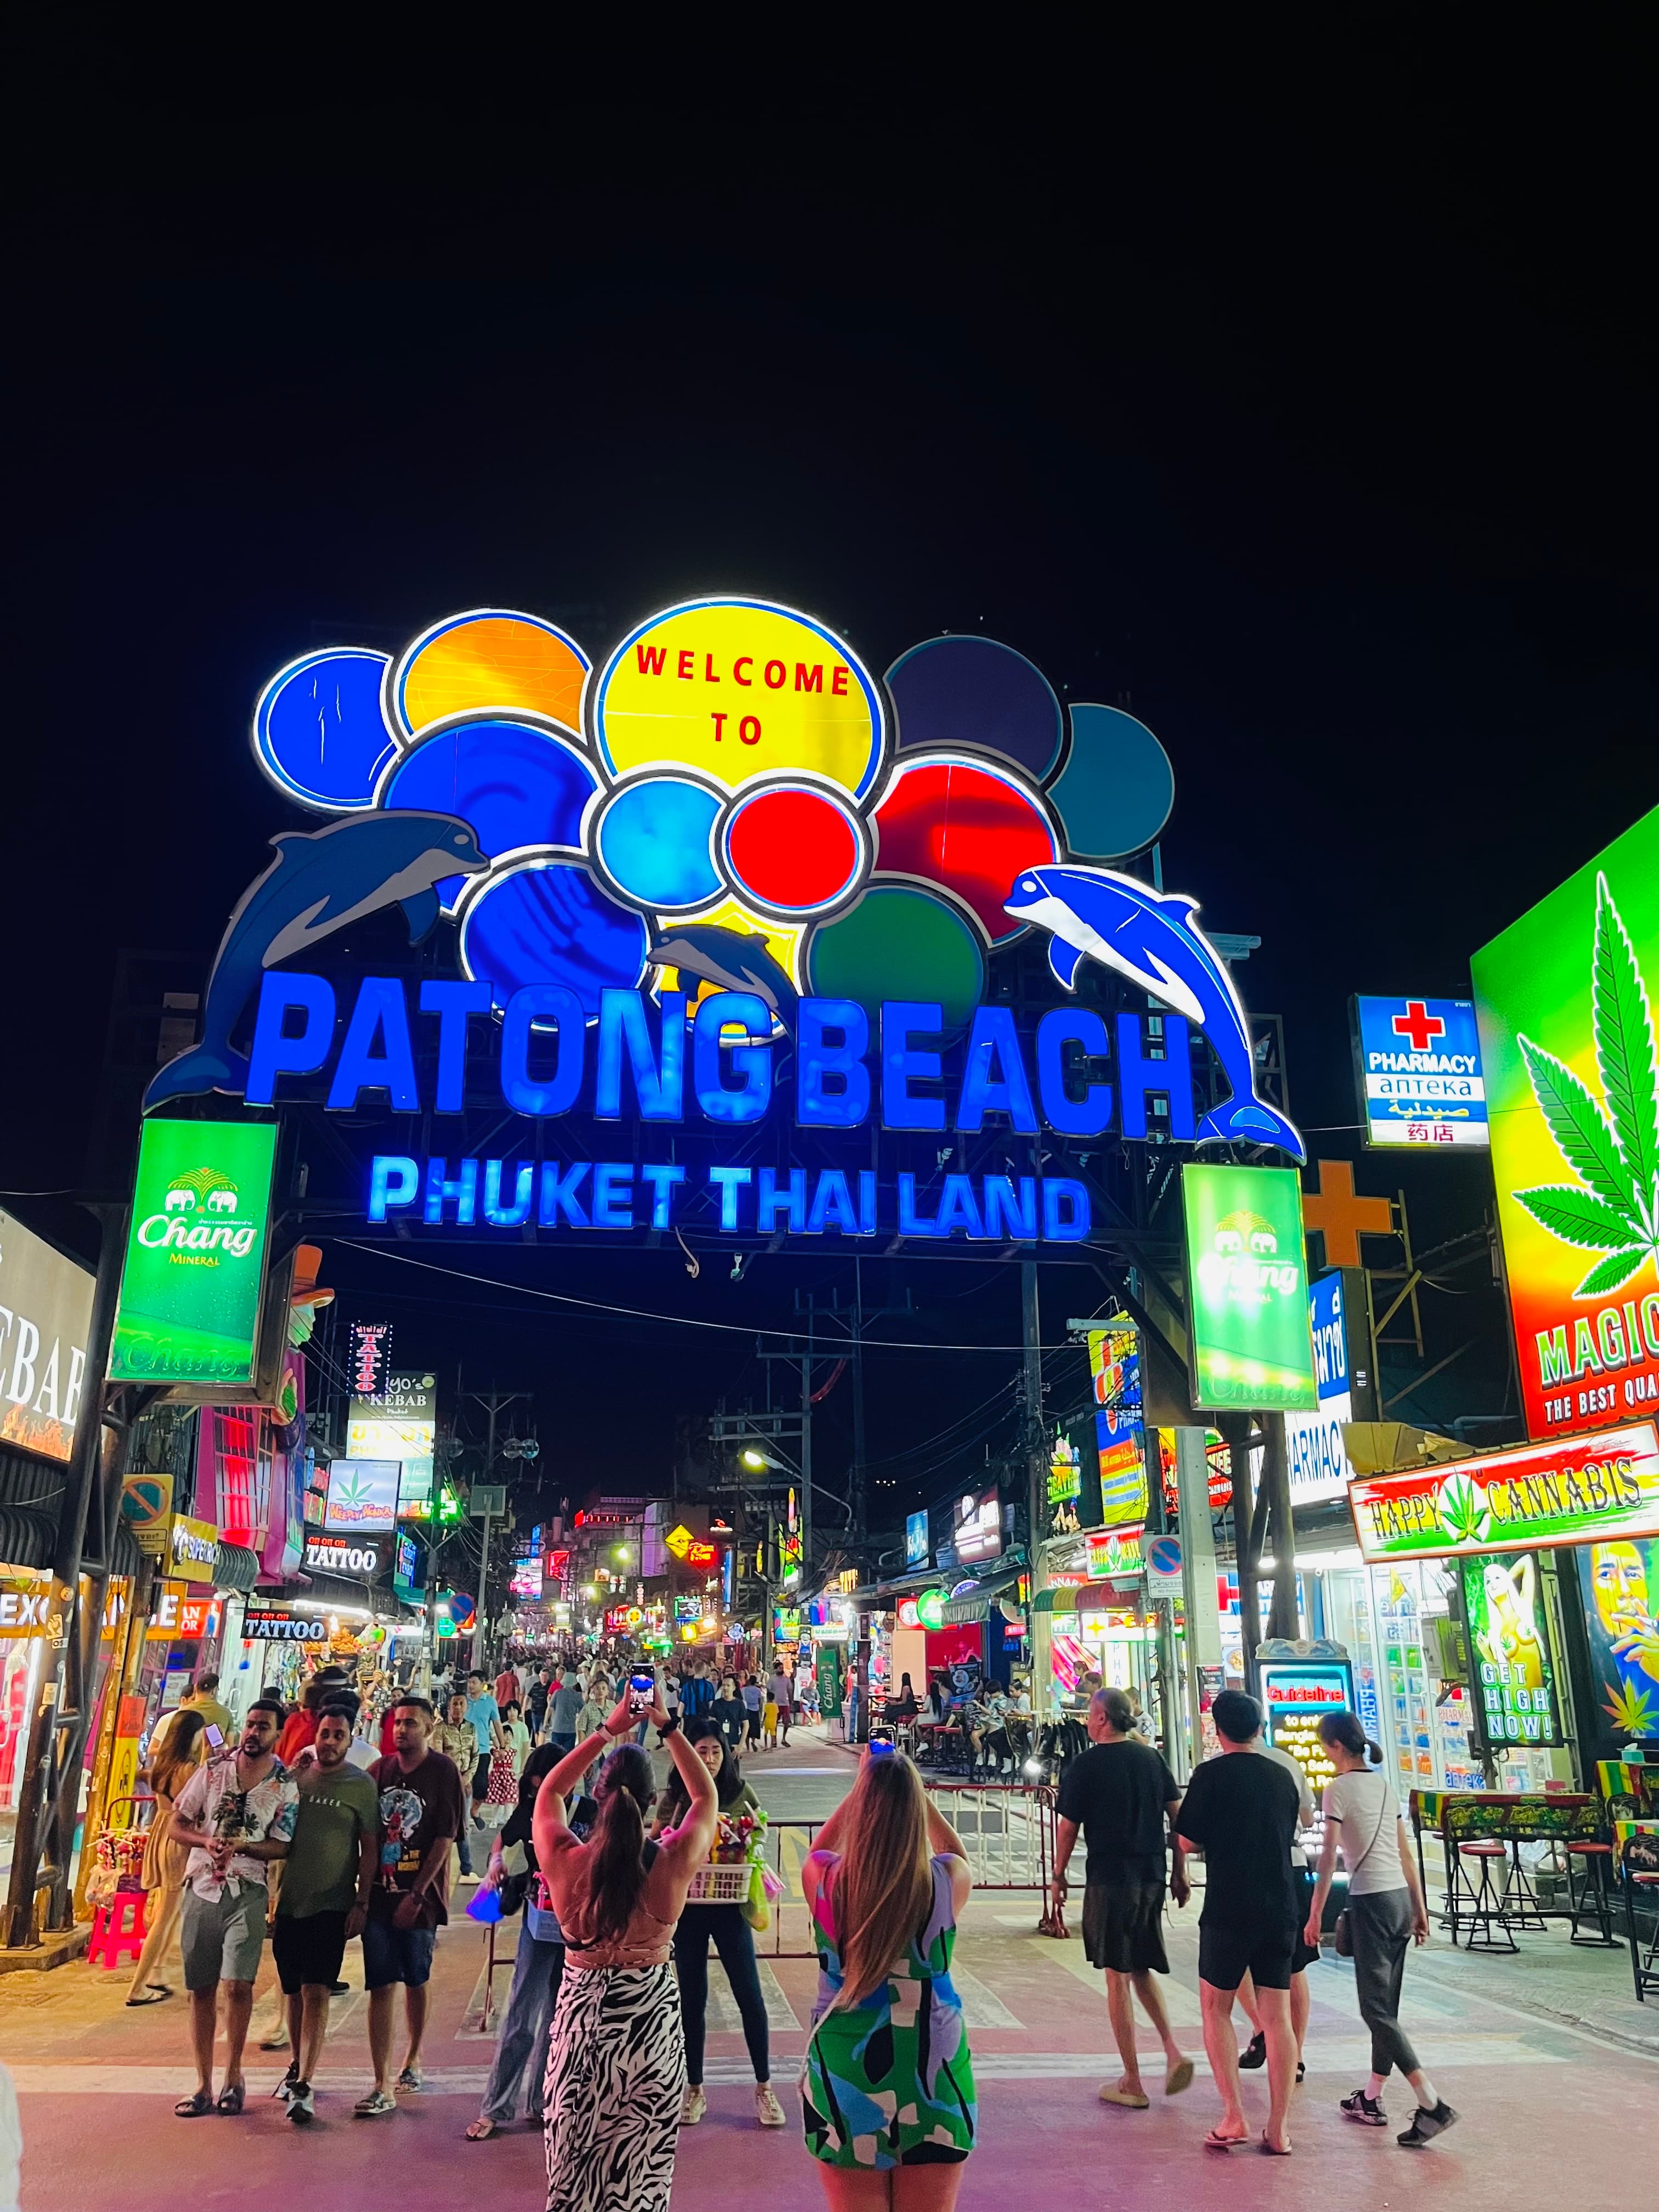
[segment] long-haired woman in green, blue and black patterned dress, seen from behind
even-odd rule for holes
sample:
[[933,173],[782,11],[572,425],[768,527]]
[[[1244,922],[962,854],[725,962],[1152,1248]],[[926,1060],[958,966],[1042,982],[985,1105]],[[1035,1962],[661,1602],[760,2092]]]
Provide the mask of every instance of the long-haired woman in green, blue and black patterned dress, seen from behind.
[[916,1767],[872,1745],[801,1869],[821,1966],[801,2104],[830,2212],[956,2205],[978,2110],[951,1986],[971,1887]]

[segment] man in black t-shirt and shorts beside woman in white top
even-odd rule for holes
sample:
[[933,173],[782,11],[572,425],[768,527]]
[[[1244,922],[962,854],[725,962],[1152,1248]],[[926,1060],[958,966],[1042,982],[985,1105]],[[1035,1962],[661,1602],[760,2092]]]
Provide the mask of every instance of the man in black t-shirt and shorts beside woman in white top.
[[1214,2150],[1248,2141],[1239,2097],[1239,2037],[1232,2000],[1245,1973],[1256,1986],[1267,2042],[1267,2150],[1287,2154],[1285,2115],[1296,2084],[1296,2031],[1290,2020],[1290,1973],[1296,1958],[1298,1905],[1290,1871],[1298,1792],[1274,1759],[1256,1759],[1261,1705],[1243,1690],[1223,1690],[1210,1708],[1221,1754],[1194,1767],[1177,1827],[1203,1851],[1206,1889],[1199,1913],[1199,1997],[1203,2048],[1221,2090]]

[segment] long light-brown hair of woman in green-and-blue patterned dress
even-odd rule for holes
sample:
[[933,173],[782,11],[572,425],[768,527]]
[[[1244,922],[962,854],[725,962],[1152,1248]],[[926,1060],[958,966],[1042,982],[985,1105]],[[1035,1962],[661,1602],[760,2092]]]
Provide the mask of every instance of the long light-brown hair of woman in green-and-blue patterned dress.
[[841,1953],[832,2011],[863,2004],[927,1927],[933,1867],[927,1851],[927,1792],[902,1752],[867,1759],[847,1805],[847,1845],[832,1876],[830,1907]]

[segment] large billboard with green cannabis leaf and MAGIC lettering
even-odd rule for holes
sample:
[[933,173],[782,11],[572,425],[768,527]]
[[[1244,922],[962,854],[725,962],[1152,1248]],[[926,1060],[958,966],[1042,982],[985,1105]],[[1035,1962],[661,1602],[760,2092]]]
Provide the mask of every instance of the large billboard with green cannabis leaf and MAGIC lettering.
[[1659,1402],[1659,810],[1471,962],[1535,1438]]

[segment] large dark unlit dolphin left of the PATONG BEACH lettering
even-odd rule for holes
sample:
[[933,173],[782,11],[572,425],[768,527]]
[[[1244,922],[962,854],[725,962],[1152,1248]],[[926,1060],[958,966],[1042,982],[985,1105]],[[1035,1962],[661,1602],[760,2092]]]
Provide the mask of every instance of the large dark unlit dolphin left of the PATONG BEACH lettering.
[[144,1113],[204,1091],[241,1095],[248,1062],[230,1031],[268,967],[365,914],[398,905],[418,945],[438,920],[445,876],[489,867],[471,827],[456,814],[352,814],[327,830],[274,836],[276,858],[248,885],[226,922],[208,975],[201,1044],[170,1060],[144,1093]]

